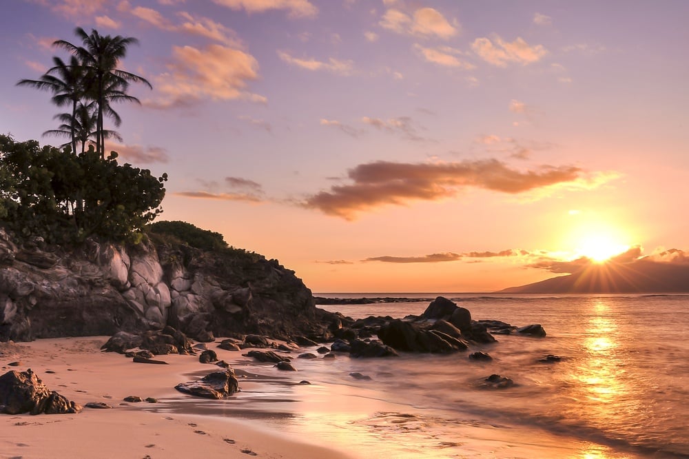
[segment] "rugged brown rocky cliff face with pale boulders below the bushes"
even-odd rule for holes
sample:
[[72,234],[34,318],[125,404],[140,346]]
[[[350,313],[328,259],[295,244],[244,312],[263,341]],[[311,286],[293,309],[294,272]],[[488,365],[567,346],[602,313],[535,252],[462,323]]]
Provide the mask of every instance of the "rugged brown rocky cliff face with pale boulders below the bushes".
[[186,245],[17,247],[0,229],[0,340],[141,332],[327,338],[332,314],[277,261]]

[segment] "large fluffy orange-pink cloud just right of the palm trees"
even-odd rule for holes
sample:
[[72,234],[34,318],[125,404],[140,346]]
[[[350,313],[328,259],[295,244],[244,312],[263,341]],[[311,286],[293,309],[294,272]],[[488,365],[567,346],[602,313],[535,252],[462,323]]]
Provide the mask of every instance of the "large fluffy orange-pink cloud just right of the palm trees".
[[245,89],[258,79],[258,61],[242,50],[223,45],[174,46],[168,72],[154,78],[157,99],[144,101],[152,108],[183,107],[201,99],[243,99],[265,103],[265,96]]

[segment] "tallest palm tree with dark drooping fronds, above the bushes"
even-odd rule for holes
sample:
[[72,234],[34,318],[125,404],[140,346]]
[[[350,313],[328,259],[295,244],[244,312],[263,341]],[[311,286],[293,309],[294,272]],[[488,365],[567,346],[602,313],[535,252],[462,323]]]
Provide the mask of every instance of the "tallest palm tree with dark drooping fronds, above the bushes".
[[74,54],[81,61],[83,68],[86,69],[86,86],[88,96],[96,101],[97,121],[96,121],[96,152],[105,156],[105,130],[103,129],[103,115],[114,117],[116,125],[119,125],[119,116],[110,108],[110,101],[134,101],[138,99],[134,96],[125,94],[129,83],[143,83],[152,88],[143,76],[125,72],[117,68],[120,59],[127,54],[127,47],[138,44],[134,37],[111,37],[110,35],[101,36],[98,31],[92,29],[91,34],[87,34],[83,28],[78,27],[74,30],[77,37],[81,39],[83,46],[76,46],[69,41],[57,40],[53,45],[64,48]]

